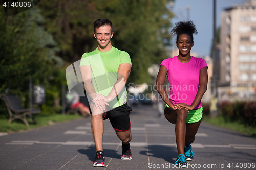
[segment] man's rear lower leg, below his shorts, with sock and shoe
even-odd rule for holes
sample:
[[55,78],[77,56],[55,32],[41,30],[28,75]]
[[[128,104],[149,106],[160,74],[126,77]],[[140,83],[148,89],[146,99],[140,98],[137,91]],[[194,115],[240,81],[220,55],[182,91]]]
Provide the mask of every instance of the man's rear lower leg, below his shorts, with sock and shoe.
[[128,131],[122,132],[116,130],[117,137],[122,141],[122,160],[131,160],[132,153],[130,147],[130,141],[132,140],[131,129]]

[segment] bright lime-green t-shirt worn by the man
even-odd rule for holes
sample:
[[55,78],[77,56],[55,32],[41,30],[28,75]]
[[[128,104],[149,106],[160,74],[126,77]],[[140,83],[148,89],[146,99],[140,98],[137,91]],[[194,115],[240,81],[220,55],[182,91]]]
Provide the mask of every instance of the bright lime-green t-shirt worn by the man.
[[[95,92],[109,95],[117,81],[117,71],[120,64],[132,64],[127,52],[118,50],[114,46],[107,52],[96,50],[82,55],[80,66],[89,65],[92,69],[92,84]],[[81,73],[83,74],[83,73]],[[127,102],[127,91],[124,86],[115,99],[109,102],[109,107],[116,108]]]

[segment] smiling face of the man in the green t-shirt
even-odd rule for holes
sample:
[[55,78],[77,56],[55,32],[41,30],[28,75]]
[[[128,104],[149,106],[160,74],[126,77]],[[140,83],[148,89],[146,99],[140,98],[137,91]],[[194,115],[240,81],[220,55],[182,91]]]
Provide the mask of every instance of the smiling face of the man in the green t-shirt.
[[112,48],[110,40],[113,36],[113,32],[111,32],[111,27],[109,25],[103,25],[96,28],[93,34],[98,42],[99,51],[106,52]]

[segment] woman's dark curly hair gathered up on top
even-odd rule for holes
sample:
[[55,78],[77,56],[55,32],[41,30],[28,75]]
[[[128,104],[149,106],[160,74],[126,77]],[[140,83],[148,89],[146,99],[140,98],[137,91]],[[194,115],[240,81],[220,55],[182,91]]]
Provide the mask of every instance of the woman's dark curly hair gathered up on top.
[[176,41],[181,34],[188,34],[193,41],[193,34],[197,35],[197,29],[193,21],[179,21],[175,23],[175,27],[170,31],[173,35],[177,35]]

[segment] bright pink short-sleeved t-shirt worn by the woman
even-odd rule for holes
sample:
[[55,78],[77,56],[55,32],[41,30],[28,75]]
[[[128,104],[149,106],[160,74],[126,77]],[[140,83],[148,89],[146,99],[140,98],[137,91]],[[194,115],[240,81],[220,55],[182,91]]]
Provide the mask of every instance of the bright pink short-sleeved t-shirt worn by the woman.
[[[191,105],[195,100],[199,88],[200,70],[207,67],[202,58],[191,56],[187,63],[181,63],[177,56],[167,58],[160,65],[167,68],[167,77],[170,85],[170,100],[172,103],[185,103]],[[201,101],[194,109],[202,106]]]

